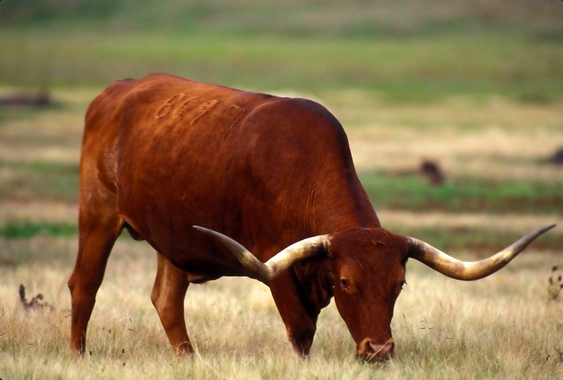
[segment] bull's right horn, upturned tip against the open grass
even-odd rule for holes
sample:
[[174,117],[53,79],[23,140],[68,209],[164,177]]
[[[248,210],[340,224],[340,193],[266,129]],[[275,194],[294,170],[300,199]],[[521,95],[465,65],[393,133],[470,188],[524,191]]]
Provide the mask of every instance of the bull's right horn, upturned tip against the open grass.
[[545,226],[537,231],[529,233],[517,242],[513,243],[501,252],[495,253],[489,258],[481,261],[459,261],[432,245],[422,240],[405,236],[410,244],[409,257],[425,263],[437,272],[451,277],[456,280],[472,281],[479,280],[501,269],[507,265],[522,250],[528,247],[528,244],[534,241],[539,235],[546,233],[555,227],[555,224]]

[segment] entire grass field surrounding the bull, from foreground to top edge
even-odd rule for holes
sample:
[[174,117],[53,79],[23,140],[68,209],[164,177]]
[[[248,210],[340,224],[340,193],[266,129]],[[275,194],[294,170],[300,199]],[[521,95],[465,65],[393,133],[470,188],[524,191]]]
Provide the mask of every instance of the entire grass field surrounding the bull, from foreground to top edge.
[[[563,147],[563,3],[368,3],[0,3],[0,378],[563,378],[563,167],[547,162]],[[334,305],[298,359],[269,290],[239,278],[191,285],[196,353],[177,360],[150,302],[153,249],[124,234],[77,359],[66,281],[84,111],[154,71],[321,102],[383,226],[463,260],[558,227],[480,281],[409,262],[385,366],[356,361]],[[41,89],[52,106],[1,104]],[[444,184],[421,176],[424,159]],[[20,284],[53,309],[24,310]]]

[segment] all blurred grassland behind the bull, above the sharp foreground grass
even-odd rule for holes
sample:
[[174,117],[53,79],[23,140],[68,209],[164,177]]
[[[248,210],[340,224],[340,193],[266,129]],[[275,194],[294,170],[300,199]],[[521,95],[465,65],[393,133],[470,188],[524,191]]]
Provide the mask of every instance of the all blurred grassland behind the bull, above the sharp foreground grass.
[[84,111],[155,71],[321,102],[399,233],[489,251],[563,213],[561,1],[4,0],[0,236],[75,235]]

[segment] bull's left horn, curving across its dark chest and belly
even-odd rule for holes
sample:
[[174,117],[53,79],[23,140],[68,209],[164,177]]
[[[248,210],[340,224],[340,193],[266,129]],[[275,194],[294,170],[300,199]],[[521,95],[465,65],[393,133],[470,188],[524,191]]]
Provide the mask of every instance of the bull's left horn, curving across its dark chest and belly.
[[250,271],[251,277],[267,284],[271,280],[278,278],[284,271],[288,270],[294,263],[308,257],[327,254],[330,235],[313,236],[303,239],[300,242],[289,245],[283,251],[265,263],[261,262],[248,249],[244,248],[235,240],[217,231],[209,230],[204,227],[193,226],[196,230],[212,236],[220,241],[231,251],[240,263]]

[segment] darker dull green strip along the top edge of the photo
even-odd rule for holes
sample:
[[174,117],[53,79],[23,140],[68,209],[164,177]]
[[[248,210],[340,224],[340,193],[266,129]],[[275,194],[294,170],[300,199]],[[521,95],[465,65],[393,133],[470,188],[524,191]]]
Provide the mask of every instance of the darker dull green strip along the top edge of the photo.
[[[563,10],[555,2],[509,3],[467,0],[402,2],[337,0],[169,0],[166,4],[131,0],[19,0],[0,4],[5,24],[60,27],[99,26],[115,30],[173,30],[294,37],[402,38],[440,34],[506,33],[536,38],[561,37]],[[86,25],[85,25],[86,24]]]

